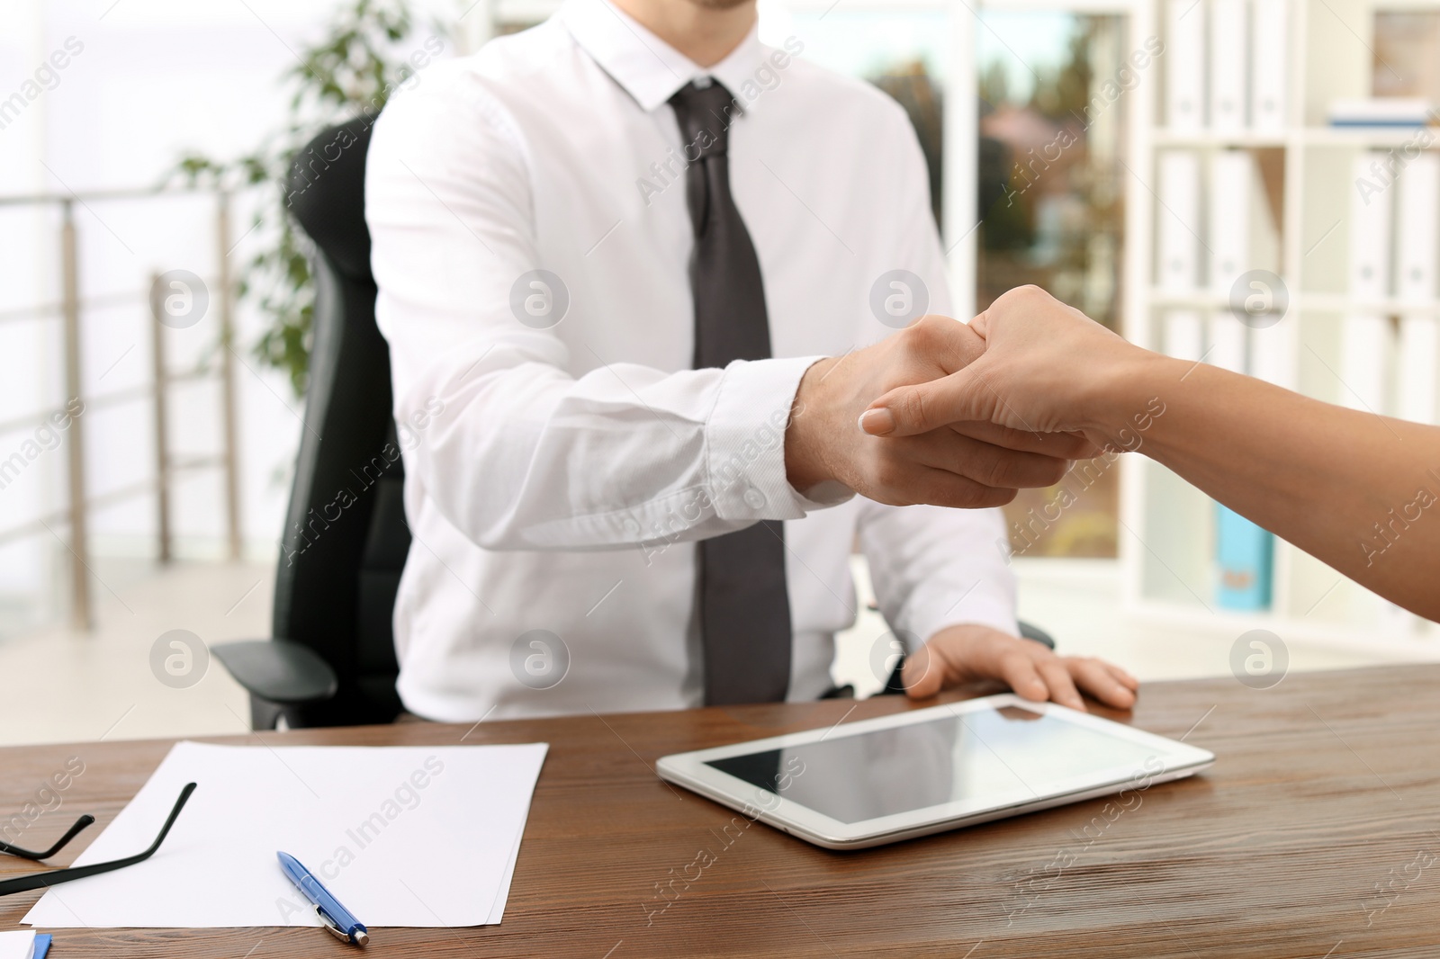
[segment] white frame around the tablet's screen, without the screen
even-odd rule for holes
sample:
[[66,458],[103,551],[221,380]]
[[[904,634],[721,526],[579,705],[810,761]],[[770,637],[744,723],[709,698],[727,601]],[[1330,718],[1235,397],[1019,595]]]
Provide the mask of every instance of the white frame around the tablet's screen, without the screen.
[[[733,756],[802,746],[835,737],[863,736],[877,730],[927,723],[940,716],[963,716],[966,713],[1004,708],[1007,706],[1038,716],[1053,716],[1113,736],[1115,739],[1153,749],[1155,759],[1159,760],[1158,767],[1155,767],[1156,763],[1146,760],[1140,769],[1125,765],[1123,767],[1115,766],[1080,776],[1070,776],[1051,783],[1048,789],[1040,793],[1030,789],[1012,789],[991,796],[946,802],[860,822],[841,822],[799,802],[786,799],[783,791],[780,793],[769,792],[707,765],[714,759],[730,759]],[[752,821],[765,822],[825,848],[855,850],[1104,796],[1126,788],[1142,791],[1159,782],[1189,776],[1211,766],[1214,762],[1214,753],[1197,746],[1165,739],[1164,736],[1146,733],[1054,703],[1031,703],[1012,693],[1004,693],[858,720],[844,726],[804,730],[744,743],[732,743],[729,746],[675,753],[662,756],[657,762],[655,769],[661,779],[714,799],[724,806],[742,812]]]

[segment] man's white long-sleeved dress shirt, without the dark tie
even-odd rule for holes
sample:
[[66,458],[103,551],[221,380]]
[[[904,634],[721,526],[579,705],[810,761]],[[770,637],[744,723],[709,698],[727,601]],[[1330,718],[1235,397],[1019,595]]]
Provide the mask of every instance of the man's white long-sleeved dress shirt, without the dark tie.
[[[415,537],[395,609],[409,710],[698,706],[694,543],[757,520],[785,521],[791,700],[831,685],[857,536],[912,645],[962,622],[1015,631],[998,511],[786,481],[801,374],[893,333],[876,281],[907,269],[949,310],[904,112],[802,46],[752,32],[706,71],[606,0],[569,0],[423,71],[377,121],[366,216]],[[744,104],[730,177],[776,357],[723,370],[690,369],[685,144],[667,104],[704,76]],[[563,648],[531,645],[537,629]]]

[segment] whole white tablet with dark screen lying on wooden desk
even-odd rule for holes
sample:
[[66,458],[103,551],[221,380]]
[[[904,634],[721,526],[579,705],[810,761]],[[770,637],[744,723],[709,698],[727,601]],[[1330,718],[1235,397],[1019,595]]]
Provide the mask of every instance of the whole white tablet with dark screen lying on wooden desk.
[[1214,753],[1014,694],[665,756],[662,779],[829,850],[1145,791]]

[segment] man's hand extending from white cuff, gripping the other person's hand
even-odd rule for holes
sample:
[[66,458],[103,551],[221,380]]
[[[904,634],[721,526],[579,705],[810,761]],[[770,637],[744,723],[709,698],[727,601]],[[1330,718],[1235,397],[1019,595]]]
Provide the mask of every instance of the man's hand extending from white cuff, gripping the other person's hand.
[[[1079,436],[1035,436],[991,422],[876,439],[855,429],[870,402],[927,383],[981,357],[984,340],[948,317],[922,317],[876,346],[806,370],[785,432],[785,468],[802,492],[837,481],[891,505],[994,507],[1020,487],[1060,481],[1089,449]],[[937,423],[945,426],[945,423]]]

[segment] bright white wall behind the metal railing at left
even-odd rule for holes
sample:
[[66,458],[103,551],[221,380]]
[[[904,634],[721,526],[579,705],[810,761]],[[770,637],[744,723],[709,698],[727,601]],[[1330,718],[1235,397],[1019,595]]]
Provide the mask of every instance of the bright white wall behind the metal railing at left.
[[[35,79],[36,69],[68,40],[72,53],[63,69],[53,75],[42,71],[45,89],[26,99],[0,130],[0,196],[147,187],[184,151],[233,157],[253,148],[282,127],[288,91],[278,76],[297,63],[294,50],[307,37],[320,36],[334,6],[333,0],[9,0],[0,24],[0,102],[14,92],[24,95],[24,82]],[[144,291],[153,272],[189,269],[206,279],[215,276],[213,206],[212,199],[199,196],[91,200],[76,207],[82,295],[124,300],[84,312],[86,396],[150,380]],[[58,228],[55,206],[0,206],[0,422],[66,399],[59,317],[3,315],[59,300]],[[232,242],[248,228],[248,213],[236,209]],[[232,269],[262,240],[256,235],[240,240],[230,255]],[[243,307],[238,323],[243,536],[248,553],[271,559],[301,405],[282,376],[261,370],[249,354],[262,318]],[[167,334],[171,369],[213,361],[216,347],[213,310],[197,325]],[[213,384],[174,387],[168,409],[173,455],[219,449]],[[82,420],[91,495],[154,475],[148,402],[108,409],[92,405]],[[0,435],[0,459],[32,432]],[[0,531],[65,505],[63,444],[0,490]],[[220,554],[225,510],[219,472],[183,474],[173,504],[180,556]],[[151,556],[154,524],[153,495],[128,500],[92,517],[91,546],[102,557]],[[56,533],[66,536],[66,527],[56,526]],[[0,628],[6,619],[14,622],[6,613],[17,603],[33,609],[39,602],[49,613],[63,608],[66,560],[65,547],[45,531],[0,546]],[[104,592],[99,585],[95,589]]]

